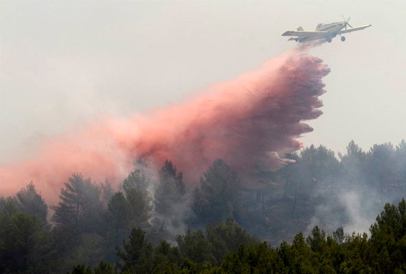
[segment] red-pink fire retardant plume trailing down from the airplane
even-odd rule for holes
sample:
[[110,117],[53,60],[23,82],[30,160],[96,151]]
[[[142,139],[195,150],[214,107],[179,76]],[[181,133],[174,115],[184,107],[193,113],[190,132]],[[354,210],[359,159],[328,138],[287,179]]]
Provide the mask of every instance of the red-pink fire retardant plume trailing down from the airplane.
[[136,158],[156,167],[169,159],[192,183],[217,158],[243,177],[278,169],[284,153],[301,147],[296,138],[313,130],[302,121],[322,114],[318,97],[328,73],[319,58],[289,51],[180,105],[128,120],[104,117],[48,141],[31,160],[0,166],[0,195],[14,195],[32,180],[56,201],[71,173],[118,184]]

